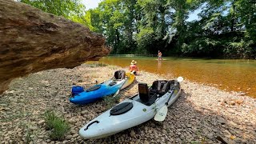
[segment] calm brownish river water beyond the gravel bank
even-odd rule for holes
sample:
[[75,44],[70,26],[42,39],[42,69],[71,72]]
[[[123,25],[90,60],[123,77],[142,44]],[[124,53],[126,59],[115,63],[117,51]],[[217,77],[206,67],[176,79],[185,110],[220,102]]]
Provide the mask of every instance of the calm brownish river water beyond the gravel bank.
[[164,74],[170,78],[182,76],[194,82],[217,86],[222,90],[242,91],[256,98],[256,61],[234,59],[194,59],[153,57],[105,57],[99,62],[127,67],[137,61],[139,70]]

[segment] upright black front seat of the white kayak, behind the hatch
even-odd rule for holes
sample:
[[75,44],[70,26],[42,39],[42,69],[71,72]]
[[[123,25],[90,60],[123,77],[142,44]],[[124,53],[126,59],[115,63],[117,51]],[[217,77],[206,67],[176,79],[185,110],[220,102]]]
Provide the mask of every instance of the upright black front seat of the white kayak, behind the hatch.
[[146,83],[138,83],[138,95],[141,102],[146,105],[152,105],[158,98],[157,94],[150,92]]

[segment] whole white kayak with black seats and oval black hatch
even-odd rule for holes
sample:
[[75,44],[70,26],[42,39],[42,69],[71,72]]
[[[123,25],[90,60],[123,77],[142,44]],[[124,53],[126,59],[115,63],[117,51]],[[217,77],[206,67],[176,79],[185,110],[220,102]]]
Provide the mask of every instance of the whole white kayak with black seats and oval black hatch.
[[86,139],[104,138],[147,122],[163,106],[172,105],[180,93],[180,83],[176,80],[155,81],[150,88],[146,83],[139,83],[138,94],[88,122],[79,135]]

